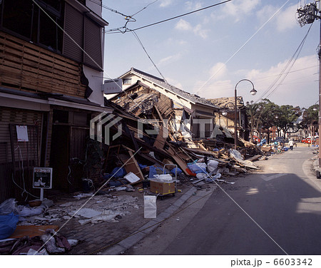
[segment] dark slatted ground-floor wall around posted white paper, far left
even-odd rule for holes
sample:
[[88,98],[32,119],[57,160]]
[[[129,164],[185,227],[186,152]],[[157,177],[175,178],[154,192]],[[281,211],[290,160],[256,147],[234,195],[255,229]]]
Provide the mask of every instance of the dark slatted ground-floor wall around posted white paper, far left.
[[[39,165],[41,122],[39,111],[0,107],[0,202],[24,201],[27,195],[21,188],[39,195],[31,182],[33,169]],[[16,125],[27,125],[29,142],[17,141]]]

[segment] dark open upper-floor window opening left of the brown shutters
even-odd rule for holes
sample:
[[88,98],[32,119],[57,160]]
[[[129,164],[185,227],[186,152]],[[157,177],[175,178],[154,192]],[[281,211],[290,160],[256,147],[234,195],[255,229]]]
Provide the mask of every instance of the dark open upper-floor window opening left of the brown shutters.
[[54,21],[63,27],[63,0],[38,0],[37,3],[51,19],[31,0],[1,0],[0,29],[61,53],[63,33]]

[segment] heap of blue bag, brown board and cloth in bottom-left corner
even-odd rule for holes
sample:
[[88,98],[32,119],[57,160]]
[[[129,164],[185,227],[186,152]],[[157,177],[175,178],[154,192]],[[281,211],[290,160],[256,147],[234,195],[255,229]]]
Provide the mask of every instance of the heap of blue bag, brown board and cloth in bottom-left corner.
[[[36,204],[37,202],[37,204]],[[34,206],[35,205],[35,206]],[[67,239],[61,234],[57,234],[57,225],[30,225],[25,227],[19,225],[20,222],[30,221],[34,217],[34,222],[42,222],[49,206],[53,205],[51,200],[44,200],[39,205],[39,201],[30,202],[30,205],[16,205],[16,201],[11,198],[0,205],[0,254],[61,254],[71,249],[78,243],[76,239]],[[49,213],[48,213],[49,214]],[[36,215],[43,218],[36,219]]]

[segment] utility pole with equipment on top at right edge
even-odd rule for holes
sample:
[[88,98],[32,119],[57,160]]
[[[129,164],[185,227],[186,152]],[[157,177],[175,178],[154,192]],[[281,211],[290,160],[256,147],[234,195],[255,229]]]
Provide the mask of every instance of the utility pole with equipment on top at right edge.
[[[317,7],[317,3],[319,4],[319,8]],[[304,26],[305,24],[312,24],[315,20],[321,19],[320,14],[320,0],[316,0],[314,3],[306,4],[305,6],[300,7],[297,9],[297,21],[299,22],[300,26]],[[319,56],[319,135],[321,133],[321,24],[320,24],[320,41],[319,41],[319,48],[317,51]],[[311,136],[312,141],[312,136]],[[312,145],[312,143],[311,143]],[[321,170],[321,138],[319,138],[319,170],[317,177],[320,178],[320,170]]]

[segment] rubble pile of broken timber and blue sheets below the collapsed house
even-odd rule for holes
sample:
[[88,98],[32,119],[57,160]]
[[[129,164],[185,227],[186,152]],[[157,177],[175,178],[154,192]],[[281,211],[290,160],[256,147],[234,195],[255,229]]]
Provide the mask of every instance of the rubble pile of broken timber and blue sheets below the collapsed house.
[[[234,140],[230,138],[219,142],[215,138],[192,140],[190,135],[180,130],[174,133],[170,125],[164,123],[163,116],[168,115],[165,108],[151,113],[159,120],[155,123],[148,120],[143,123],[143,128],[139,128],[137,124],[142,122],[143,118],[128,113],[115,103],[108,102],[108,105],[113,107],[114,115],[121,120],[109,129],[109,136],[118,134],[118,138],[103,148],[103,164],[98,170],[102,176],[93,182],[98,187],[106,180],[107,187],[141,185],[154,175],[166,173],[178,176],[180,182],[190,181],[197,178],[191,165],[206,164],[208,160],[218,162],[219,168],[223,168],[222,175],[233,176],[237,172],[258,169],[253,161],[263,156],[263,152],[255,144],[242,139],[238,140],[238,150],[234,150]],[[156,106],[151,106],[150,110],[153,108]],[[142,111],[136,114],[141,113]],[[202,172],[208,170],[205,168]],[[102,178],[104,180],[101,180]],[[128,190],[126,187],[123,189]]]

